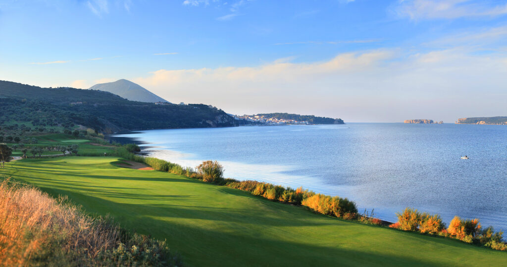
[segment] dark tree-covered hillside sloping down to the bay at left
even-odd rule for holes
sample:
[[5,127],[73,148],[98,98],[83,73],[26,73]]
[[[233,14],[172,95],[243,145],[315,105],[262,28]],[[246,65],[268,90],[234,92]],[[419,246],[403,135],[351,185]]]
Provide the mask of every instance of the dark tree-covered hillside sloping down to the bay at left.
[[[13,123],[15,122],[15,123]],[[132,129],[235,126],[233,117],[202,104],[155,105],[110,92],[41,88],[0,81],[0,125],[23,130],[84,125],[103,132]],[[30,126],[27,126],[30,125]],[[20,129],[21,130],[21,129]]]

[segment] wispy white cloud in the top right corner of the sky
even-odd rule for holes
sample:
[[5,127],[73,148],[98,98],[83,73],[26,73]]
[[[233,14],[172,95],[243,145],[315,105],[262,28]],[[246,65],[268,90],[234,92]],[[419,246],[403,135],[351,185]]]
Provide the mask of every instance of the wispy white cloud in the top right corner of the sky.
[[413,20],[494,17],[507,14],[507,4],[492,6],[487,1],[473,0],[400,0],[395,12]]

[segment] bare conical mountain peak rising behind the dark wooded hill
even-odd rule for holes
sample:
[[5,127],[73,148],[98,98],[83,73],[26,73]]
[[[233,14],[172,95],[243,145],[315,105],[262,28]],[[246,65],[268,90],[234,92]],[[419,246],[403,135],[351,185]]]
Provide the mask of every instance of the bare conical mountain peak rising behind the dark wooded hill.
[[168,102],[164,98],[148,91],[147,89],[144,89],[142,86],[125,79],[111,83],[95,84],[89,89],[111,92],[130,101],[147,103]]

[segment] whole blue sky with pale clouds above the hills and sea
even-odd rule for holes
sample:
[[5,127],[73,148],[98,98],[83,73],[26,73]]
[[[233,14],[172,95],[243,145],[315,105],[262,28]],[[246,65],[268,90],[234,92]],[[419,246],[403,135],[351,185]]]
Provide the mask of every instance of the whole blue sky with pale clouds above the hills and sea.
[[0,80],[345,122],[507,116],[507,0],[0,0]]

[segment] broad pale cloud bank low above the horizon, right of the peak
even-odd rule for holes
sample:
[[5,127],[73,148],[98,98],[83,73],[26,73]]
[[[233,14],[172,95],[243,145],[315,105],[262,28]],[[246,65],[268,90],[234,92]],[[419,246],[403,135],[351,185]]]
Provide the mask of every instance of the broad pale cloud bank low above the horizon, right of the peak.
[[348,121],[421,117],[446,122],[505,114],[507,56],[470,52],[406,56],[397,49],[376,50],[312,63],[284,59],[250,67],[158,70],[133,81],[172,102],[206,103],[235,114],[283,111]]

